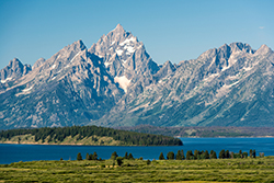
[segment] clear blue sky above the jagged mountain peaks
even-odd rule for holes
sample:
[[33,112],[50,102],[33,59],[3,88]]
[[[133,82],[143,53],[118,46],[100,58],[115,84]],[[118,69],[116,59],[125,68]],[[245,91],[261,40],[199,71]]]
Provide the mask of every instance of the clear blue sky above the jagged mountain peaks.
[[273,0],[0,0],[0,69],[33,65],[121,23],[158,64],[197,58],[225,43],[274,49]]

